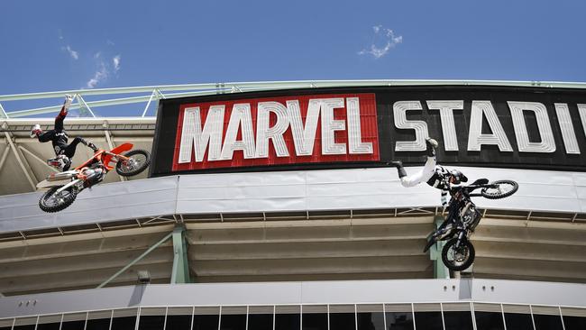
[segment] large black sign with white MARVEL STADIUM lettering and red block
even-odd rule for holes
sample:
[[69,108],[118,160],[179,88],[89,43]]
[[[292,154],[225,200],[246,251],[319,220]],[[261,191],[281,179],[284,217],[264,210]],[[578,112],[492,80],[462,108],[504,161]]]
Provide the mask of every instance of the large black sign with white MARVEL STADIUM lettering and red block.
[[586,93],[511,87],[290,90],[163,100],[152,175],[419,163],[586,170]]

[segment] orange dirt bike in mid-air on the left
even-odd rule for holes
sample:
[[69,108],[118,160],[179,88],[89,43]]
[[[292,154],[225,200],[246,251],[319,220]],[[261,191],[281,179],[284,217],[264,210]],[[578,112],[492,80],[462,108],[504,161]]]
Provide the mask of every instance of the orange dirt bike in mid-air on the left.
[[151,155],[148,151],[132,149],[132,143],[121,144],[111,151],[96,149],[91,159],[74,170],[51,174],[37,185],[37,188],[49,188],[39,199],[41,210],[59,212],[70,206],[81,190],[102,181],[114,166],[123,177],[141,173],[151,163]]

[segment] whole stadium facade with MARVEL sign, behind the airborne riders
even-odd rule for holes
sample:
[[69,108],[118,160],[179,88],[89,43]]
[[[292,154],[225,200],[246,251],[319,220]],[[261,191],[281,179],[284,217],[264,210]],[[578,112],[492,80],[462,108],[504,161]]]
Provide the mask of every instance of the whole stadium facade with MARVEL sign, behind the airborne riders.
[[[52,151],[28,131],[66,93],[86,115],[70,136],[153,161],[46,214]],[[114,115],[129,105],[142,116]],[[0,329],[586,328],[586,84],[130,87],[0,96],[0,110]],[[474,199],[462,273],[441,245],[422,252],[439,192],[382,166],[417,170],[428,135],[447,167],[519,184]]]

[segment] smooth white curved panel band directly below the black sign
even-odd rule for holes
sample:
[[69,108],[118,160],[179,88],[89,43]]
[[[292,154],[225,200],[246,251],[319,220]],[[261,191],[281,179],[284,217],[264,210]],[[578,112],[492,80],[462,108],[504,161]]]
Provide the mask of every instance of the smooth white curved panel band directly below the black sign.
[[[412,173],[419,168],[408,168]],[[586,174],[545,170],[460,168],[475,179],[514,179],[512,197],[474,198],[481,208],[582,213]],[[0,231],[84,225],[172,214],[366,210],[440,206],[425,183],[403,188],[392,168],[198,174],[103,184],[79,194],[72,206],[45,214],[40,193],[0,197]]]

